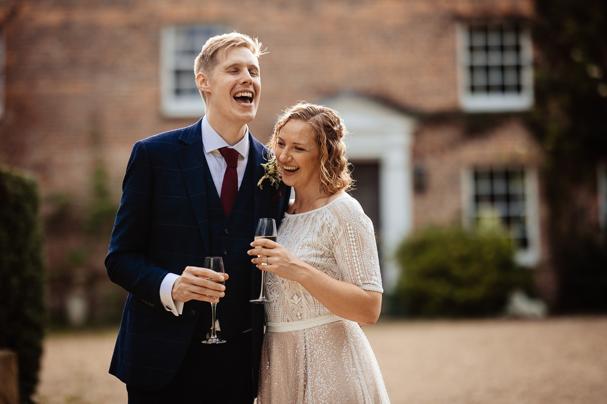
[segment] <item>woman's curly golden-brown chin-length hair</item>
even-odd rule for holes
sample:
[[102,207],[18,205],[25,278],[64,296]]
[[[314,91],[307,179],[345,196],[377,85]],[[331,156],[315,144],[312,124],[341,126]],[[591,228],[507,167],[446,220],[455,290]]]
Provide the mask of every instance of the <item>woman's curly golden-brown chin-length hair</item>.
[[287,108],[274,125],[272,137],[267,144],[273,153],[276,151],[280,130],[291,119],[307,122],[316,131],[320,165],[319,191],[333,194],[340,190],[350,190],[353,179],[343,140],[348,131],[337,111],[305,101],[299,101],[293,107]]

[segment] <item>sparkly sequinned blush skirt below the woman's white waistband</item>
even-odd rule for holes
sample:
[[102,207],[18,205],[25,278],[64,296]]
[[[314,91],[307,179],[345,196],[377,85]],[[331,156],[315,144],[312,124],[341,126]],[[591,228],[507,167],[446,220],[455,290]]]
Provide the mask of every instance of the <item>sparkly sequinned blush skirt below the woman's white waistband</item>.
[[373,349],[349,320],[266,332],[261,365],[257,404],[390,402]]

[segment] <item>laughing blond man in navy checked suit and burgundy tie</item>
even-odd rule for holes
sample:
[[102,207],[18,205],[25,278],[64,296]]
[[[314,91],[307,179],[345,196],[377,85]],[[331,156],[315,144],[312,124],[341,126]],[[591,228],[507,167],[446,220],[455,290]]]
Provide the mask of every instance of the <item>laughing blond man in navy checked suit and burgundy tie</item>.
[[[210,38],[195,60],[206,115],[194,125],[138,141],[106,257],[129,292],[110,373],[129,403],[252,403],[263,305],[260,272],[246,254],[260,217],[278,220],[288,192],[266,184],[268,151],[248,131],[261,91],[257,39]],[[203,268],[220,256],[220,275]],[[211,305],[223,344],[203,344]]]

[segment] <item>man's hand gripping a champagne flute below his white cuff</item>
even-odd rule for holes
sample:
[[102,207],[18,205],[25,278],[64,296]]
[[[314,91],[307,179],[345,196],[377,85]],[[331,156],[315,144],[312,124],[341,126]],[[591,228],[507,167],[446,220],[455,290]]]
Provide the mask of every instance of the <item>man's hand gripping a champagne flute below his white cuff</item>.
[[175,280],[171,296],[173,300],[188,302],[202,300],[217,303],[219,297],[225,296],[226,287],[221,283],[228,279],[228,274],[220,274],[208,268],[186,267],[183,274]]

